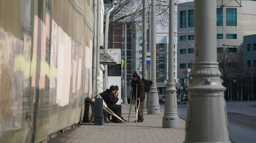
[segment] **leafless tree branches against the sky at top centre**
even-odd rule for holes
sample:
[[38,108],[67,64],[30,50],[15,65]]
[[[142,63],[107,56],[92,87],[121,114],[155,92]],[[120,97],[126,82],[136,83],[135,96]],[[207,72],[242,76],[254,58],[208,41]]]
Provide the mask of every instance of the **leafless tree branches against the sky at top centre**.
[[[179,3],[180,0],[174,0],[174,5]],[[122,25],[129,25],[132,27],[134,33],[141,33],[142,26],[142,0],[119,0],[115,9],[110,14],[109,29],[114,27],[122,27]],[[147,14],[149,14],[150,0],[147,0]],[[105,5],[104,17],[111,4]],[[161,28],[166,28],[168,26],[169,19],[169,0],[156,0],[156,24]],[[148,21],[148,16],[146,16]],[[105,25],[105,21],[104,21]]]

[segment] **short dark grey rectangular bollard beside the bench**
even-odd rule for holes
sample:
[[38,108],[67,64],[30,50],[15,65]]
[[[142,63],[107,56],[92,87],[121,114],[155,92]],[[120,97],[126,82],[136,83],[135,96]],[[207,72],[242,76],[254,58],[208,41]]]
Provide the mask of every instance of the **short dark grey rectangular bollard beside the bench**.
[[103,125],[103,98],[95,98],[94,125]]

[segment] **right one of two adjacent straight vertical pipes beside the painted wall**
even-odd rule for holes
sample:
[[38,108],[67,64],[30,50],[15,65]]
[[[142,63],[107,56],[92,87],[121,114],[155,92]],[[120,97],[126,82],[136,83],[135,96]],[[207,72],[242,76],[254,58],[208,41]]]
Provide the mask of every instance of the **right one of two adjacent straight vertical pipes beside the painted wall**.
[[[97,79],[100,79],[100,8],[101,7],[101,2],[98,0],[98,12],[97,12],[97,66],[96,66],[96,73],[97,73]],[[105,77],[106,78],[106,77]],[[106,80],[106,79],[105,79]],[[96,82],[96,91],[95,94],[99,94],[99,88],[100,88],[100,83]]]

